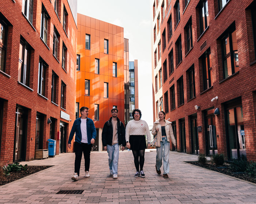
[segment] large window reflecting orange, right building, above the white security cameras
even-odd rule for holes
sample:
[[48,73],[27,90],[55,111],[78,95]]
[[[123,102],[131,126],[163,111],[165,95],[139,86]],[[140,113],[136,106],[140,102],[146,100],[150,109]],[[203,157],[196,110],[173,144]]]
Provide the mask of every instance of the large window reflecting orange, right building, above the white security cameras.
[[239,71],[236,30],[230,30],[221,39],[224,79]]

